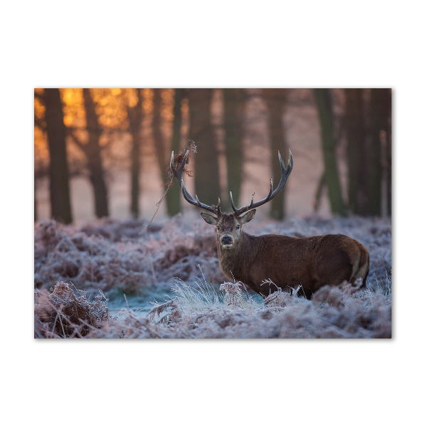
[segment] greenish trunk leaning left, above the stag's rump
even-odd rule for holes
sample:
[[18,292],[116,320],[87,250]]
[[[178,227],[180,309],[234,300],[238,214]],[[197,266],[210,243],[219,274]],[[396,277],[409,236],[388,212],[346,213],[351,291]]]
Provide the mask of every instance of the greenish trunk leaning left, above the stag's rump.
[[329,89],[315,89],[315,100],[322,132],[322,149],[325,162],[325,182],[332,214],[344,215],[341,184],[337,165],[336,141],[334,139],[334,115]]

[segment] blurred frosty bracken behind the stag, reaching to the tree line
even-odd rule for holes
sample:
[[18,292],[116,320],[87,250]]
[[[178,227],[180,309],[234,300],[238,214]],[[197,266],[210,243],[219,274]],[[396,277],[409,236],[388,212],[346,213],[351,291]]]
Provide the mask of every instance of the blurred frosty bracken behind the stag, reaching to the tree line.
[[[211,283],[222,283],[214,229],[200,218],[176,217],[152,224],[147,233],[140,220],[92,221],[83,227],[56,221],[36,223],[34,230],[34,285],[49,289],[72,280],[78,288],[119,289],[132,295],[171,278],[201,278],[198,265]],[[370,218],[289,219],[248,223],[246,232],[287,236],[342,233],[362,242],[370,253],[368,280],[386,281],[391,272],[391,221]]]

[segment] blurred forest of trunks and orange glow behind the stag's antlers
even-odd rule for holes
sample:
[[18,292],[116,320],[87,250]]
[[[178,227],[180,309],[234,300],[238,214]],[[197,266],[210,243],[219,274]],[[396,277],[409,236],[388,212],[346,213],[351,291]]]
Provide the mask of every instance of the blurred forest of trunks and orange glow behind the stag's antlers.
[[[292,177],[258,216],[391,216],[391,89],[40,88],[35,220],[151,218],[188,139],[186,186],[204,203],[264,197],[291,149]],[[157,218],[194,209],[173,185]]]

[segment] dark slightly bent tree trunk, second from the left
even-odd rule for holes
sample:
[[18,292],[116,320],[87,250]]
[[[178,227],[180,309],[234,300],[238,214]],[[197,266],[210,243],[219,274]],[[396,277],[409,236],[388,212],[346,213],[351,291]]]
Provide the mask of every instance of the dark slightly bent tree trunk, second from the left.
[[95,194],[95,215],[98,218],[108,216],[107,186],[105,185],[104,169],[102,167],[102,157],[100,149],[100,136],[102,129],[97,122],[95,103],[90,96],[89,89],[83,89],[83,100],[86,110],[86,129],[89,134],[88,144],[83,144],[83,150],[88,157],[88,168],[90,172],[90,182]]

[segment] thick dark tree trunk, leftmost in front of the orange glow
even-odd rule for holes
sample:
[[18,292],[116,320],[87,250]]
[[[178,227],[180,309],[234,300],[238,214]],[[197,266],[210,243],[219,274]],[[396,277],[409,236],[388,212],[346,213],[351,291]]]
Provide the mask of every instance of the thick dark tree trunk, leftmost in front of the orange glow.
[[63,105],[59,89],[45,89],[43,100],[46,107],[46,132],[50,156],[51,216],[57,221],[70,223],[70,183],[68,181],[66,129],[63,120]]

